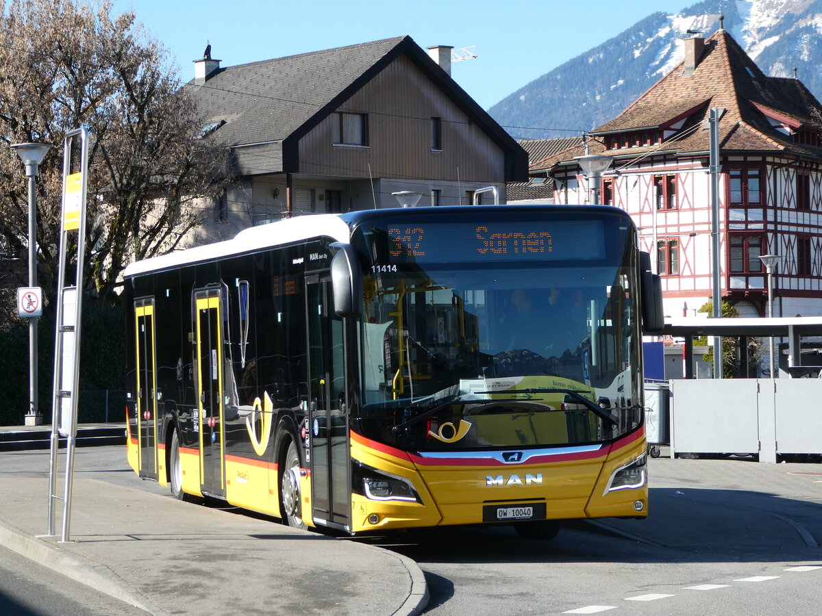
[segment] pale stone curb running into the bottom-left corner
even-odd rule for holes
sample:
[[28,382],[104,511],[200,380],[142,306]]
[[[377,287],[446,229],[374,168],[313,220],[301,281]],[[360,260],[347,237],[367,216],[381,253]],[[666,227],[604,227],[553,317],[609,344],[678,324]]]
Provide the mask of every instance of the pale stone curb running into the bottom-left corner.
[[108,567],[94,560],[73,554],[51,541],[27,535],[0,520],[0,545],[26,559],[43,565],[75,582],[114,597],[128,605],[155,616],[167,614],[145,595],[132,591],[128,583]]

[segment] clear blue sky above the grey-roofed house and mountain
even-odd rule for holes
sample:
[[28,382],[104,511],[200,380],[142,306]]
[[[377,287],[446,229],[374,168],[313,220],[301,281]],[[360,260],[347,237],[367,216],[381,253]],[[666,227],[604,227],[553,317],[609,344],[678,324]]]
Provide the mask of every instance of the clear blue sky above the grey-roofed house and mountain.
[[428,45],[473,45],[452,76],[483,108],[626,30],[695,0],[115,0],[169,49],[184,80],[206,40],[222,66],[409,34]]

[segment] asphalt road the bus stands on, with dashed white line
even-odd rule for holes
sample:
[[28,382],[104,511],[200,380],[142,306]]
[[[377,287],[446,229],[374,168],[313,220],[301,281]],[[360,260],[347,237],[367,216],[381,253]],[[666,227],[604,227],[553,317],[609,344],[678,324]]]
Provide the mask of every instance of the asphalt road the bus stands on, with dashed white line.
[[[2,453],[0,467],[44,473],[48,453]],[[122,448],[78,449],[76,472],[166,494],[127,469]],[[818,614],[820,465],[658,458],[650,476],[645,522],[574,522],[547,542],[505,526],[368,541],[420,564],[435,616]]]

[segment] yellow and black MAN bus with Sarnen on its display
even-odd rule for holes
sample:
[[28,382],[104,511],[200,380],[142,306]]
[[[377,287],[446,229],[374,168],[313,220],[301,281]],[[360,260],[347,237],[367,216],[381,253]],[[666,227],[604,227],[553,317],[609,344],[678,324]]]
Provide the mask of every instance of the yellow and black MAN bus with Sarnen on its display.
[[625,212],[558,205],[302,216],[138,261],[128,461],[351,534],[644,517],[649,269]]

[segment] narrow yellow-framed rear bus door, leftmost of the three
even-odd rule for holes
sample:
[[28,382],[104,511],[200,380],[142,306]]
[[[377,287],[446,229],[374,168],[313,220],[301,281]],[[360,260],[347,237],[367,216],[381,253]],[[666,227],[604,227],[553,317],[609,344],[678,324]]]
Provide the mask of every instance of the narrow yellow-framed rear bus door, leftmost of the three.
[[157,479],[157,372],[154,297],[134,302],[137,369],[137,440],[141,477]]

